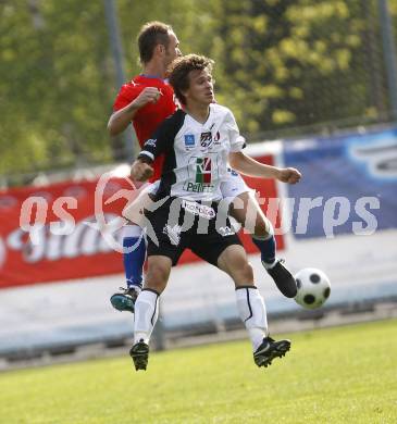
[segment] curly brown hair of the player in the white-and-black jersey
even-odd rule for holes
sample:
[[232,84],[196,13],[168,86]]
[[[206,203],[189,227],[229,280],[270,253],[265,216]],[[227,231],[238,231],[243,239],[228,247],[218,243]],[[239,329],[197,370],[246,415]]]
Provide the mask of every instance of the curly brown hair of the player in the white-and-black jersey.
[[186,104],[186,98],[182,91],[186,91],[189,88],[189,72],[203,70],[212,72],[214,63],[212,59],[198,54],[187,54],[176,58],[171,63],[169,66],[169,82],[182,104]]

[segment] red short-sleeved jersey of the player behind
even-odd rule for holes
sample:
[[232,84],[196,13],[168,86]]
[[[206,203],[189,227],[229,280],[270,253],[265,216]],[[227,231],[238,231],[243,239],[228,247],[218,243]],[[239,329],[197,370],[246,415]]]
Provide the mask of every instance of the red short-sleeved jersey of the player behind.
[[[136,99],[146,87],[157,87],[162,96],[160,96],[156,103],[148,103],[144,108],[140,108],[134,116],[133,125],[140,147],[142,147],[145,141],[152,136],[159,124],[161,124],[165,117],[172,115],[176,110],[174,90],[170,84],[161,78],[138,75],[131,83],[122,86],[115,98],[113,111],[115,112],[125,108]],[[161,177],[163,162],[163,155],[156,159],[152,164],[154,173],[150,180],[153,182]]]

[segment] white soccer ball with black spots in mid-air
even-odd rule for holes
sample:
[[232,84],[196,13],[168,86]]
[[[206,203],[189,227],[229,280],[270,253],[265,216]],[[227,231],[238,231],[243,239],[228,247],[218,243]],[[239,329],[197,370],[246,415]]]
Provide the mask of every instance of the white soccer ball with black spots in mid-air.
[[324,304],[330,297],[331,285],[328,277],[315,267],[306,267],[296,275],[298,292],[295,301],[306,309],[317,309]]

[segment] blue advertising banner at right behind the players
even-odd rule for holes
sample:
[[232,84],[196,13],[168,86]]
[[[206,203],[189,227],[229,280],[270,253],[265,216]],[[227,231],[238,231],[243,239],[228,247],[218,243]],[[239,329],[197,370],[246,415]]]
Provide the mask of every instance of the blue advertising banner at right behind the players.
[[397,128],[284,144],[297,238],[397,228]]

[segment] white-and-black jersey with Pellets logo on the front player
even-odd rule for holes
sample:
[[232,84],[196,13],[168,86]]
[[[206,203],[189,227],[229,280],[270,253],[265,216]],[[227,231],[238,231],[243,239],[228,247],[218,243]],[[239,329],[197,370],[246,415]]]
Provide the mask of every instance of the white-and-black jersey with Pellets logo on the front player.
[[228,153],[240,151],[244,146],[233,113],[212,103],[204,124],[182,110],[175,112],[145,142],[138,158],[153,161],[164,154],[157,198],[219,201]]

